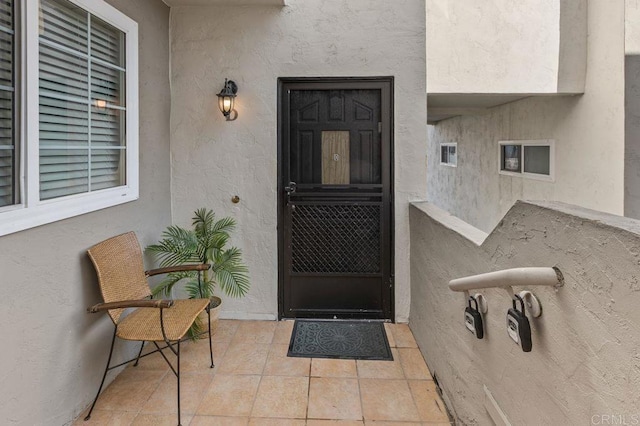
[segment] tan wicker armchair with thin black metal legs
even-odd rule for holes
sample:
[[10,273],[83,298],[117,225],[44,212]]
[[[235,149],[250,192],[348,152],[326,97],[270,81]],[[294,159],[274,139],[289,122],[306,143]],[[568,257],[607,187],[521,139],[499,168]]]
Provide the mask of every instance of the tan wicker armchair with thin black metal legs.
[[[133,232],[96,244],[88,250],[88,253],[98,275],[98,284],[104,303],[98,303],[87,311],[90,313],[107,311],[115,329],[102,382],[85,420],[91,417],[109,370],[133,361],[135,361],[134,365],[138,365],[140,358],[160,352],[178,381],[178,425],[180,425],[180,342],[185,339],[191,324],[203,310],[206,310],[209,316],[209,353],[211,368],[214,367],[209,299],[152,300],[147,277],[174,271],[198,271],[200,275],[200,272],[207,270],[210,265],[181,265],[144,271],[142,250]],[[128,315],[123,315],[127,308],[134,308],[134,310]],[[110,366],[116,337],[142,341],[142,345],[136,358]],[[145,342],[152,342],[156,349],[142,355]],[[161,347],[159,342],[164,345]],[[175,355],[175,366],[163,352],[164,349],[168,349]]]

